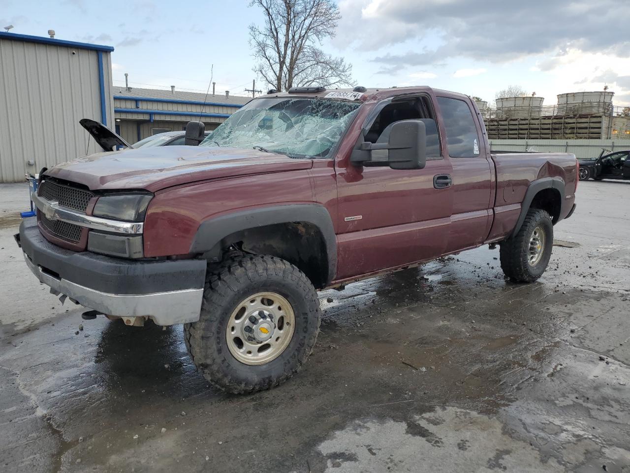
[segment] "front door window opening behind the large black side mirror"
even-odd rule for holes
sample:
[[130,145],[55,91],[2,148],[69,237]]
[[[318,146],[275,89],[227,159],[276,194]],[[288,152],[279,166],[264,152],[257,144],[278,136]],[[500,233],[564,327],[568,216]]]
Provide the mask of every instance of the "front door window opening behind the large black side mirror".
[[430,102],[425,98],[413,98],[386,105],[365,134],[365,141],[387,143],[391,125],[401,120],[423,120],[427,127],[427,158],[442,156],[435,116],[430,108]]

